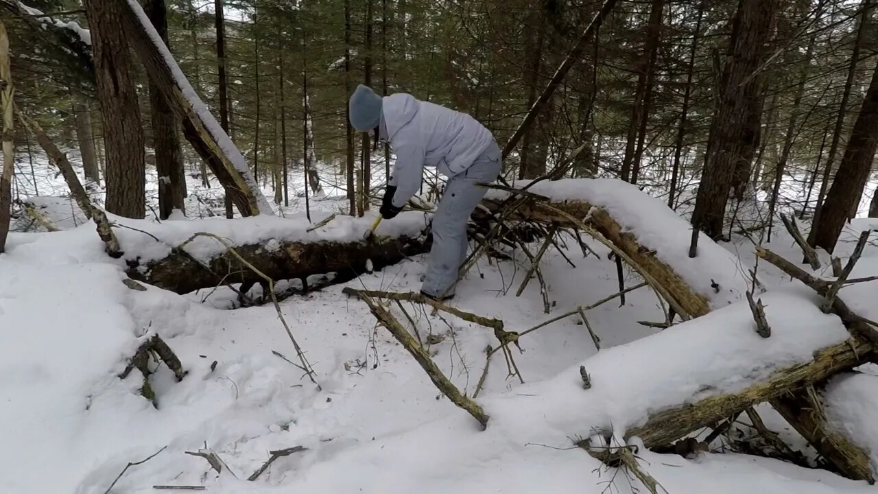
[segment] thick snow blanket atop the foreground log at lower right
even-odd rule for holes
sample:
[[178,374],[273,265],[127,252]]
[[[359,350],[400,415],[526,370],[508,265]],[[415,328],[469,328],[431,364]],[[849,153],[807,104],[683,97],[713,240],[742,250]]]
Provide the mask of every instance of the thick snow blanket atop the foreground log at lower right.
[[[622,436],[660,411],[738,393],[784,367],[810,362],[817,350],[850,336],[838,316],[824,314],[808,297],[775,292],[760,298],[771,338],[756,333],[747,302],[736,302],[581,362],[591,389],[582,389],[577,364],[551,381],[490,400],[486,412],[493,421],[544,421],[561,435],[613,429]],[[531,398],[522,401],[522,394]]]

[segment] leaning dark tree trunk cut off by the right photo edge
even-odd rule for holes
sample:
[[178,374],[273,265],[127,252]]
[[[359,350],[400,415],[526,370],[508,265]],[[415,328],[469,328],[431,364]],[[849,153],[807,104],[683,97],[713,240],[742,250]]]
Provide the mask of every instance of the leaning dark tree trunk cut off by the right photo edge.
[[[872,73],[872,81],[866,91],[866,98],[860,106],[860,114],[853,124],[851,137],[847,140],[845,156],[841,158],[835,180],[823,207],[820,224],[817,225],[815,246],[827,252],[835,249],[838,235],[844,228],[848,212],[860,201],[862,189],[869,171],[872,170],[875,149],[878,147],[878,65]],[[858,194],[858,192],[860,192]]]

